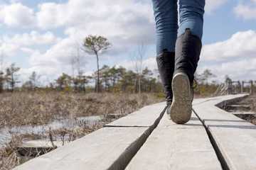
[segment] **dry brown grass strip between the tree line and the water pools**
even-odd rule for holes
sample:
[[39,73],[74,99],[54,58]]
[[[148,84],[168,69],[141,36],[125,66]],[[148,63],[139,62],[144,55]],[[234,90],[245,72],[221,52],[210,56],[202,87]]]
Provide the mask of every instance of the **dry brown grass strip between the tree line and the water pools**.
[[60,94],[57,92],[0,94],[0,128],[43,125],[55,115],[65,117],[128,114],[164,101],[151,94]]

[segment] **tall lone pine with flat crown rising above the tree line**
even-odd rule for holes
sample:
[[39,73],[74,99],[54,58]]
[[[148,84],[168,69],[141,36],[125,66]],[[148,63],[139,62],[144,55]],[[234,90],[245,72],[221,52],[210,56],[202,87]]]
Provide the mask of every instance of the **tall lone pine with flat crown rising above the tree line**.
[[107,42],[107,38],[97,35],[89,35],[84,40],[84,51],[89,55],[95,55],[97,58],[97,84],[96,92],[99,93],[100,86],[100,68],[99,68],[99,55],[107,51],[112,45]]

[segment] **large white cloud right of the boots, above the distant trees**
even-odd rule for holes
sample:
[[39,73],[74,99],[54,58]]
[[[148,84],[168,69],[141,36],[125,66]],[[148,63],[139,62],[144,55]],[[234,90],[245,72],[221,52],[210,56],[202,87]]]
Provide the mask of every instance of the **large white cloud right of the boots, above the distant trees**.
[[225,81],[225,75],[234,81],[255,79],[256,76],[256,33],[254,30],[235,33],[230,39],[204,45],[198,74],[210,69],[218,81]]

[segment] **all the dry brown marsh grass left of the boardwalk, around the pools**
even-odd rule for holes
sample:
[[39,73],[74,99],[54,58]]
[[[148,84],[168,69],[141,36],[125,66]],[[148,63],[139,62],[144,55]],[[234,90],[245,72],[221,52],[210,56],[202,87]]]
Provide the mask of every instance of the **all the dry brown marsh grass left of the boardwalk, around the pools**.
[[[15,93],[0,94],[0,128],[15,126],[46,125],[58,118],[77,118],[90,115],[103,115],[100,124],[88,126],[84,122],[77,122],[73,128],[48,130],[43,134],[27,132],[20,134],[11,132],[11,140],[0,140],[0,169],[12,169],[18,164],[26,162],[30,155],[25,157],[16,149],[22,140],[42,140],[46,137],[51,141],[60,139],[73,141],[90,132],[93,132],[105,123],[110,123],[119,117],[137,111],[143,106],[165,101],[152,94],[65,94],[58,92],[45,93]],[[118,114],[117,118],[110,118],[110,113]]]

